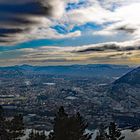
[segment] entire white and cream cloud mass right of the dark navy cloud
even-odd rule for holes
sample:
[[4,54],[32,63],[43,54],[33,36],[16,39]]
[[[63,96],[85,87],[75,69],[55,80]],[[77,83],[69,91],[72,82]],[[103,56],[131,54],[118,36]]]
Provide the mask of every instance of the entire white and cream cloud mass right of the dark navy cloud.
[[[15,0],[10,0],[10,3]],[[30,2],[33,0],[29,0]],[[28,1],[28,2],[29,2]],[[24,1],[26,3],[27,0]],[[99,24],[103,29],[94,31],[93,35],[97,36],[117,36],[121,32],[129,35],[132,39],[140,37],[140,0],[85,0],[86,6],[82,5],[80,8],[74,8],[66,11],[65,8],[68,3],[78,3],[80,0],[41,0],[42,4],[47,7],[48,4],[53,8],[51,11],[51,18],[31,17],[32,21],[39,22],[33,25],[26,25],[30,30],[22,34],[15,34],[11,39],[13,43],[21,41],[28,41],[30,39],[60,39],[81,36],[81,31],[74,31],[73,33],[60,34],[52,29],[52,26],[65,26],[66,30],[71,30],[75,25],[83,25],[87,22]],[[1,3],[7,3],[1,1]],[[23,2],[16,1],[18,4]],[[110,23],[110,24],[107,24]],[[4,25],[2,24],[1,27]],[[17,25],[5,25],[7,27],[16,28]],[[31,27],[32,26],[32,27]],[[20,26],[20,28],[25,26]],[[129,31],[135,29],[134,32],[127,32],[128,30],[116,30],[117,28],[127,27]],[[86,32],[86,31],[85,31]],[[94,36],[93,36],[94,37]],[[8,44],[8,42],[7,42]],[[11,44],[11,43],[10,43]]]

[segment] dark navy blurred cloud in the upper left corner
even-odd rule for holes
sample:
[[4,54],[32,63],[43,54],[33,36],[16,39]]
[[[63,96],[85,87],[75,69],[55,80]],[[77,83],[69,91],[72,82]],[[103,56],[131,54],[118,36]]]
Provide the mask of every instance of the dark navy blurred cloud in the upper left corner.
[[55,1],[61,0],[53,0],[54,4],[51,0],[0,0],[0,42],[16,42],[18,34],[40,24],[41,17],[52,16],[56,12]]

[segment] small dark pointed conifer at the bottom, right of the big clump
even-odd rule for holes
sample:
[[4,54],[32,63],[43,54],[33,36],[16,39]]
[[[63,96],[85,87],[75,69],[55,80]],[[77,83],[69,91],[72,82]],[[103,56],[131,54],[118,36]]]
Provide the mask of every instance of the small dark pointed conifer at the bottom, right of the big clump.
[[121,131],[114,122],[110,123],[108,131],[109,133],[106,134],[106,137],[109,140],[123,140],[125,138],[124,136],[121,136]]

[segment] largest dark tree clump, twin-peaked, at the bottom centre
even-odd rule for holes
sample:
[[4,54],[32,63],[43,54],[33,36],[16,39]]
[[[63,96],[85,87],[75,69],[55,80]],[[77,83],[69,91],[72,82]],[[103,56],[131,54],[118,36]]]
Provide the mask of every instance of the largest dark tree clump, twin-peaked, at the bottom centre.
[[54,119],[54,130],[49,140],[90,140],[91,134],[85,133],[87,124],[79,113],[68,116],[60,107]]

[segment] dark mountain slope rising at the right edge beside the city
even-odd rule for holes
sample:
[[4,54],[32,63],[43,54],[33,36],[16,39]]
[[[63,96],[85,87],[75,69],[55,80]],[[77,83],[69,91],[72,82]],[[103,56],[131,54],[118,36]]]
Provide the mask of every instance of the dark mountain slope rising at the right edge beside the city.
[[112,83],[108,95],[129,110],[140,107],[140,67]]

